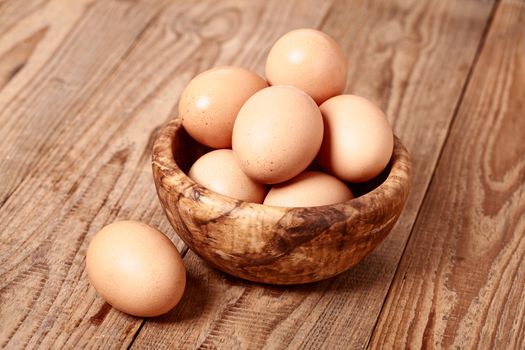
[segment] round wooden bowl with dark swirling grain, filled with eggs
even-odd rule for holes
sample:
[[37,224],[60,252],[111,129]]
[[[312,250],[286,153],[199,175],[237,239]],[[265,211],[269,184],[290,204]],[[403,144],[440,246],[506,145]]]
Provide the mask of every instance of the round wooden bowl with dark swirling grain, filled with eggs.
[[180,238],[212,266],[256,282],[297,284],[354,266],[390,232],[410,188],[410,158],[399,139],[384,181],[350,201],[309,208],[247,203],[212,192],[185,172],[207,149],[180,119],[160,130],[153,175],[166,215]]

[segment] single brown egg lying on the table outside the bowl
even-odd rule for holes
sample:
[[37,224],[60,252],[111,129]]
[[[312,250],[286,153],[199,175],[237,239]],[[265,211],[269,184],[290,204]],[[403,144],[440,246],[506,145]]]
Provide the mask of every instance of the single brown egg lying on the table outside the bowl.
[[114,308],[130,315],[162,315],[179,302],[186,271],[173,243],[137,221],[105,226],[86,256],[89,280]]

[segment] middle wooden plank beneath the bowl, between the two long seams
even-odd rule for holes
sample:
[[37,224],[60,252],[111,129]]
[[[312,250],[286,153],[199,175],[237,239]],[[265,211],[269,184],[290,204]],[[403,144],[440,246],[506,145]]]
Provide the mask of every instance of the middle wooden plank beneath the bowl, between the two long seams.
[[400,222],[356,268],[307,286],[243,282],[189,252],[186,297],[172,313],[148,320],[133,347],[365,347],[492,8],[489,1],[334,2],[319,27],[349,55],[347,91],[380,104],[413,155],[413,192]]

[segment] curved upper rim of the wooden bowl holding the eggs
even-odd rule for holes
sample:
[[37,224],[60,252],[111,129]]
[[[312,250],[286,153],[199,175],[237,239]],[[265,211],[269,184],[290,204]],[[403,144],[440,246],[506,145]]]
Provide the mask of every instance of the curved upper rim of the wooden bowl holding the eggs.
[[411,175],[411,160],[410,155],[402,144],[401,140],[394,134],[394,147],[392,157],[390,159],[390,172],[386,179],[373,190],[345,202],[328,204],[322,206],[312,207],[279,207],[267,204],[245,202],[229,196],[222,195],[215,191],[209,190],[206,187],[193,181],[177,164],[173,154],[173,146],[175,142],[175,135],[177,132],[182,132],[182,121],[180,117],[168,121],[161,126],[153,144],[152,151],[152,167],[155,172],[161,175],[162,184],[155,183],[157,186],[168,187],[170,191],[175,191],[178,195],[186,198],[196,199],[195,193],[198,193],[199,200],[206,200],[208,205],[229,205],[244,208],[253,208],[269,211],[272,210],[278,215],[285,215],[293,211],[301,211],[302,214],[308,212],[317,212],[323,209],[347,210],[348,207],[353,207],[359,210],[362,214],[371,213],[377,210],[377,206],[369,205],[372,201],[379,201],[382,203],[380,207],[396,207],[396,202],[399,198],[395,195],[388,195],[388,193],[404,194],[401,203],[404,204],[408,191],[406,187],[410,185]]

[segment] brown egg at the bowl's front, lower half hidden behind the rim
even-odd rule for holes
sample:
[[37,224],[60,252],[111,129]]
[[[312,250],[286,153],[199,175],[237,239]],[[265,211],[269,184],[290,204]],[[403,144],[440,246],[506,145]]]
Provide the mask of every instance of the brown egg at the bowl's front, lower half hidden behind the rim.
[[346,202],[354,198],[338,178],[319,171],[305,171],[272,187],[264,204],[276,207],[315,207]]

